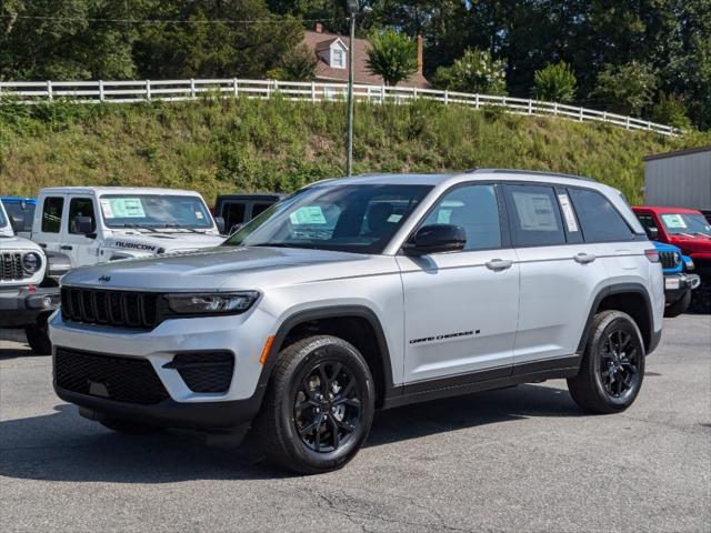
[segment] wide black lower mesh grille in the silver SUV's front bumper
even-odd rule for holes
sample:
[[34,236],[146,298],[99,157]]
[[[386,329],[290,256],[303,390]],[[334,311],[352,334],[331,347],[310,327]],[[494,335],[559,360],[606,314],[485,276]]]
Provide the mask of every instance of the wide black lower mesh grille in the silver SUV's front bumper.
[[[54,380],[60,389],[117,402],[148,405],[169,399],[153,366],[146,359],[57,348]],[[102,393],[97,394],[96,391]]]

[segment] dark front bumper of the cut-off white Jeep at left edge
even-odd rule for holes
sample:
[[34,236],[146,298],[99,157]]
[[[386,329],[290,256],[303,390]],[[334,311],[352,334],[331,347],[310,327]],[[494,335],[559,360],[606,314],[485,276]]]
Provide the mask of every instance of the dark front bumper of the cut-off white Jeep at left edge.
[[58,288],[29,288],[0,290],[0,328],[22,328],[36,323],[43,313],[51,313],[59,308]]

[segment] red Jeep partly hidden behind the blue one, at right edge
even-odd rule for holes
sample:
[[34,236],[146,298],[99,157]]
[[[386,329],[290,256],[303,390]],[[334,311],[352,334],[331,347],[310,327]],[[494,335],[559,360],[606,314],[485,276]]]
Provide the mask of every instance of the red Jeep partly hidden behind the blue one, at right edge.
[[[693,293],[691,309],[711,311],[711,224],[695,209],[632,208],[650,239],[679,247],[693,260],[701,286]],[[653,237],[655,235],[655,237]]]

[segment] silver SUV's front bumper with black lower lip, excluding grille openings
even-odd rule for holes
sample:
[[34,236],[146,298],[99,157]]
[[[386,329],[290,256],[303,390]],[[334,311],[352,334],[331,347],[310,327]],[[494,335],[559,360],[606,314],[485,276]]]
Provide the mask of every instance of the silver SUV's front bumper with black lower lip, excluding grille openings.
[[[150,363],[168,395],[153,404],[117,401],[58,386],[57,375],[54,390],[62,400],[83,408],[98,420],[118,418],[202,430],[234,428],[251,420],[261,404],[267,373],[259,359],[274,326],[274,319],[259,309],[243,315],[166,320],[151,331],[80,324],[64,321],[57,313],[50,320],[50,339],[56,346],[54,374],[58,349],[90,352],[99,358],[143,360]],[[193,392],[170,364],[178,354],[216,351],[234,356],[226,392]]]

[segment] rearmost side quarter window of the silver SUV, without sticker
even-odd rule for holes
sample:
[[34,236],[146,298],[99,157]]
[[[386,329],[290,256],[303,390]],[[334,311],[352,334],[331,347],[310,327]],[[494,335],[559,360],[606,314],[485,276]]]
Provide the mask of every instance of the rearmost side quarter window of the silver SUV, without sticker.
[[598,191],[569,189],[585,242],[632,241],[634,233],[612,203]]

